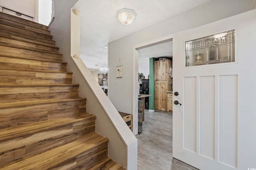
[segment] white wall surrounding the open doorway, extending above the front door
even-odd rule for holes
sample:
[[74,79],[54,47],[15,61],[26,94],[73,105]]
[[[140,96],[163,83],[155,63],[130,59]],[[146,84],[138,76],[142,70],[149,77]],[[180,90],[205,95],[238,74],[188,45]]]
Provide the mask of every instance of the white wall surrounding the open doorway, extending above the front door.
[[[135,48],[172,38],[174,33],[255,9],[255,6],[255,0],[212,0],[109,43],[108,96],[111,102],[119,111],[133,113],[134,118],[138,117],[138,51]],[[122,78],[116,78],[115,73],[119,58],[123,63]],[[134,119],[133,123],[136,128],[138,121]],[[135,131],[137,133],[138,128]]]

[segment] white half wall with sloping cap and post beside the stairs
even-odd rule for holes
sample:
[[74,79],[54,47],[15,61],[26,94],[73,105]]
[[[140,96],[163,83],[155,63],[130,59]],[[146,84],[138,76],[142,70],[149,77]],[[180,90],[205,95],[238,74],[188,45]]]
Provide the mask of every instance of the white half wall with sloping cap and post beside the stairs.
[[73,83],[80,84],[79,96],[87,98],[86,111],[96,115],[96,132],[109,139],[108,156],[126,170],[136,170],[136,137],[79,57],[79,21],[79,12],[71,9],[71,56],[67,63],[73,72]]

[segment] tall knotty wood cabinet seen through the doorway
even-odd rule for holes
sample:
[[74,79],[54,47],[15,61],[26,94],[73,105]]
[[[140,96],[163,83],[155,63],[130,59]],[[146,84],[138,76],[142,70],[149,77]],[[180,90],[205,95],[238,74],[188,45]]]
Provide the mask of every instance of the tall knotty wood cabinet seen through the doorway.
[[169,59],[154,62],[154,109],[167,111],[167,92],[172,91]]

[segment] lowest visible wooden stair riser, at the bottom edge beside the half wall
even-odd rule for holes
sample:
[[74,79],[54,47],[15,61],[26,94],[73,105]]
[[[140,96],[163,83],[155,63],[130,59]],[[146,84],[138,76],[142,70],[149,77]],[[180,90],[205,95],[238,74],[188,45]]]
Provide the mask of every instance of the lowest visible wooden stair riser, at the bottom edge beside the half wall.
[[51,170],[87,170],[108,156],[108,145],[104,143],[90,152],[84,152],[75,158],[67,160],[62,164],[51,168]]

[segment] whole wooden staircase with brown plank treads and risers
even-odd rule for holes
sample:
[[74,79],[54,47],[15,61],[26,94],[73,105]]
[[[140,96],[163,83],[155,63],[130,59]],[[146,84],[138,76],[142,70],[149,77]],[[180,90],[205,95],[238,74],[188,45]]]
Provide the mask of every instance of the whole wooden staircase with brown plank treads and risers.
[[0,169],[123,170],[45,25],[0,12]]

